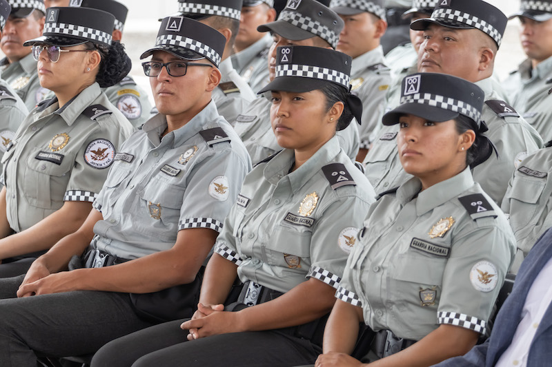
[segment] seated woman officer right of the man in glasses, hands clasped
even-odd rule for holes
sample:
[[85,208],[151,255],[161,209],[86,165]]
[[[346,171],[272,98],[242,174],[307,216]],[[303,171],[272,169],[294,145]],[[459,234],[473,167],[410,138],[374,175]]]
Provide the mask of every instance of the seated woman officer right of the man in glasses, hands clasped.
[[[351,58],[307,46],[278,55],[276,78],[259,93],[272,91],[272,126],[285,149],[246,176],[199,310],[184,324],[107,344],[92,366],[295,366],[320,353],[322,317],[374,192],[335,136],[362,112],[348,94]],[[244,282],[238,303],[223,311],[236,277]]]

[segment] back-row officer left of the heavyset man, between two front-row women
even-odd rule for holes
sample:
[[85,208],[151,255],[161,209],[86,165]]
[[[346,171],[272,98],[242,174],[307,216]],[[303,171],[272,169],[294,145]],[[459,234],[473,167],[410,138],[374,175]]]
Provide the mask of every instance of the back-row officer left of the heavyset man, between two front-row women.
[[364,111],[369,111],[359,127],[360,147],[356,160],[362,162],[370,148],[373,129],[380,122],[385,94],[391,83],[380,45],[380,38],[387,29],[384,0],[333,0],[330,7],[345,23],[337,50],[353,58],[351,90],[359,96]]

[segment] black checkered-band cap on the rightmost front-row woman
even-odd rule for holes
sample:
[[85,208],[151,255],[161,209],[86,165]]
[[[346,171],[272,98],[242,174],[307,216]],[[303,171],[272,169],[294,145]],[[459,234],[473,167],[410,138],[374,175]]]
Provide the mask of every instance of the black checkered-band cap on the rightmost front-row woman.
[[401,105],[384,114],[384,125],[395,125],[403,114],[413,114],[437,123],[459,115],[471,118],[474,129],[481,127],[485,94],[480,87],[456,76],[416,73],[402,81]]

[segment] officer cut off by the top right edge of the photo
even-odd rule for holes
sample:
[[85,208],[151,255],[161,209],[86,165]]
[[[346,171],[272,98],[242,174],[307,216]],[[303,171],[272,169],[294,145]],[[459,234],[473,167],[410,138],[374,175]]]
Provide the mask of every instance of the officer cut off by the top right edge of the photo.
[[517,112],[540,133],[552,139],[552,1],[522,1],[520,39],[527,59],[504,81],[504,90]]

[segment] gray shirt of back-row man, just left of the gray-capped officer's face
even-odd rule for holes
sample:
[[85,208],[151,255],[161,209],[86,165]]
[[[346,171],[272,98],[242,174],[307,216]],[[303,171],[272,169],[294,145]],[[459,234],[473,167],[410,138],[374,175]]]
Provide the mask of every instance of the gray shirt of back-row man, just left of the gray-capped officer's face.
[[267,33],[245,50],[230,56],[237,73],[255,93],[268,84],[268,50],[272,43],[272,37]]

